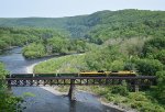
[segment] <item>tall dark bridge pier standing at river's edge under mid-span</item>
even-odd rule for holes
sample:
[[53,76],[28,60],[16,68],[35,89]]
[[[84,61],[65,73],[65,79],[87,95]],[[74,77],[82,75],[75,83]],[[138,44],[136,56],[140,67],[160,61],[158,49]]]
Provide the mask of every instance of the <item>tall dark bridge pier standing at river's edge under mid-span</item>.
[[76,100],[75,92],[76,92],[75,79],[70,79],[70,88],[68,91],[68,97],[70,101]]

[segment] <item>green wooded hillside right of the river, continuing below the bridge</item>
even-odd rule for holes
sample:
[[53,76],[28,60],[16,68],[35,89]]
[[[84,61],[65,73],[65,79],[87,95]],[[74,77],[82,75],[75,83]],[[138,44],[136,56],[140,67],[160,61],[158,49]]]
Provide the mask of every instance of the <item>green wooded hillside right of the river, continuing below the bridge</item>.
[[43,61],[35,66],[34,72],[134,70],[138,75],[157,76],[157,86],[142,87],[140,92],[130,92],[125,85],[89,90],[139,112],[165,111],[164,11],[100,11],[78,21],[73,18],[67,30],[73,35],[80,32],[90,42],[90,51]]

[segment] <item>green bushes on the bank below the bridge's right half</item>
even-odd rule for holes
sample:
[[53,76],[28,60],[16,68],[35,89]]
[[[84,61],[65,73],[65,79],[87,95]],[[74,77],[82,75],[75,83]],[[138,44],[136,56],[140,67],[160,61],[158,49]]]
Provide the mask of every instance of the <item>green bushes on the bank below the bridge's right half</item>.
[[[139,112],[164,112],[165,109],[157,103],[157,101],[152,100],[152,96],[146,92],[127,92],[127,96],[120,94],[114,87],[91,87],[91,91],[106,98],[107,101],[113,102],[114,104],[125,108],[135,109]],[[122,88],[122,87],[116,87]],[[123,89],[119,89],[123,90]],[[116,91],[116,92],[113,92]]]

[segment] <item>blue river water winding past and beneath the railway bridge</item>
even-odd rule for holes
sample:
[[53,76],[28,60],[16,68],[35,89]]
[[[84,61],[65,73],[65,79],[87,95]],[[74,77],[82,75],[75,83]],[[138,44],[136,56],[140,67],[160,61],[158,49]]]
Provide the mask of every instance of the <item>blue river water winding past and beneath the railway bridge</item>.
[[[12,74],[30,72],[29,68],[40,61],[50,59],[25,59],[21,48],[13,48],[0,55],[0,61]],[[24,97],[26,107],[23,112],[121,112],[101,104],[97,97],[87,92],[76,92],[76,101],[69,101],[52,87],[12,87],[15,96]],[[26,97],[26,96],[31,97]]]

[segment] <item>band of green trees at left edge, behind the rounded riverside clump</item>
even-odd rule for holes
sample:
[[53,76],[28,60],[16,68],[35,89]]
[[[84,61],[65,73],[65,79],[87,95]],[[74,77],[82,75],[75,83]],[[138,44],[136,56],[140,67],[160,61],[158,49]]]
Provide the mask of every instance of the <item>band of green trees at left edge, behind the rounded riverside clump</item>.
[[0,49],[8,49],[11,46],[23,46],[33,42],[43,42],[57,31],[34,29],[34,27],[0,27]]

